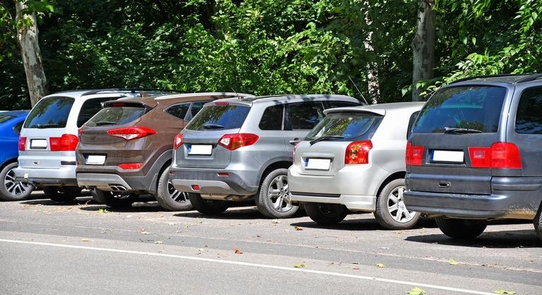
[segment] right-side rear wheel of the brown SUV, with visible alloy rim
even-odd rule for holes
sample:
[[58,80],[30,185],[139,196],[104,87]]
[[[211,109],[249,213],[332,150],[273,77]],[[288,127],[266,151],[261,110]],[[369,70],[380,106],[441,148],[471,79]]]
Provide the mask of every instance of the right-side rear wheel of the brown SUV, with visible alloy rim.
[[167,167],[158,179],[158,188],[156,191],[156,200],[158,204],[168,211],[186,211],[192,210],[193,206],[188,200],[188,193],[177,191],[171,181],[169,181],[169,170]]

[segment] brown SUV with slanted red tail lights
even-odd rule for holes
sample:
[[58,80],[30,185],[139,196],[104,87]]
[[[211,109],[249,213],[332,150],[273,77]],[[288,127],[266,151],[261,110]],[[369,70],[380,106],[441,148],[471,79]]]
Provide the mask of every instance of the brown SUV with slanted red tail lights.
[[155,195],[167,210],[188,210],[185,193],[169,182],[173,140],[203,104],[236,93],[191,93],[103,103],[79,129],[78,186],[94,190],[99,203],[130,206],[138,195]]

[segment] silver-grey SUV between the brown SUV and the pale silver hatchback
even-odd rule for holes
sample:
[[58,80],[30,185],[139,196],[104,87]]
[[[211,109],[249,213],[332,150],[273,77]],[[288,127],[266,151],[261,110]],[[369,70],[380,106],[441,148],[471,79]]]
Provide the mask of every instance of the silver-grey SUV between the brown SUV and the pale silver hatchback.
[[215,215],[232,201],[254,201],[267,217],[298,210],[288,194],[294,145],[324,109],[359,106],[342,95],[290,95],[216,100],[176,136],[170,179],[193,207]]

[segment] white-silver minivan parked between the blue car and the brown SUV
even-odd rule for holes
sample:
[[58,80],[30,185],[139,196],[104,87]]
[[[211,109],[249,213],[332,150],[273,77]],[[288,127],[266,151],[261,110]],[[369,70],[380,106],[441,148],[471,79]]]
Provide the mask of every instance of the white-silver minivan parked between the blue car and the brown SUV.
[[47,198],[52,200],[73,200],[81,191],[76,181],[78,128],[102,109],[102,102],[159,93],[164,92],[80,90],[43,97],[28,114],[20,131],[16,179],[42,186]]

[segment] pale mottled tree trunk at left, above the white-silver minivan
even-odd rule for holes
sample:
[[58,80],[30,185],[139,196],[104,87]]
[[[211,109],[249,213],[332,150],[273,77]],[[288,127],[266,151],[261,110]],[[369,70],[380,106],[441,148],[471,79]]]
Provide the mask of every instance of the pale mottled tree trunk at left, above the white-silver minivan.
[[37,39],[36,13],[25,13],[27,6],[24,1],[16,1],[15,8],[16,23],[18,23],[17,42],[23,56],[30,104],[34,107],[38,100],[47,95],[47,78],[43,71],[42,53]]

